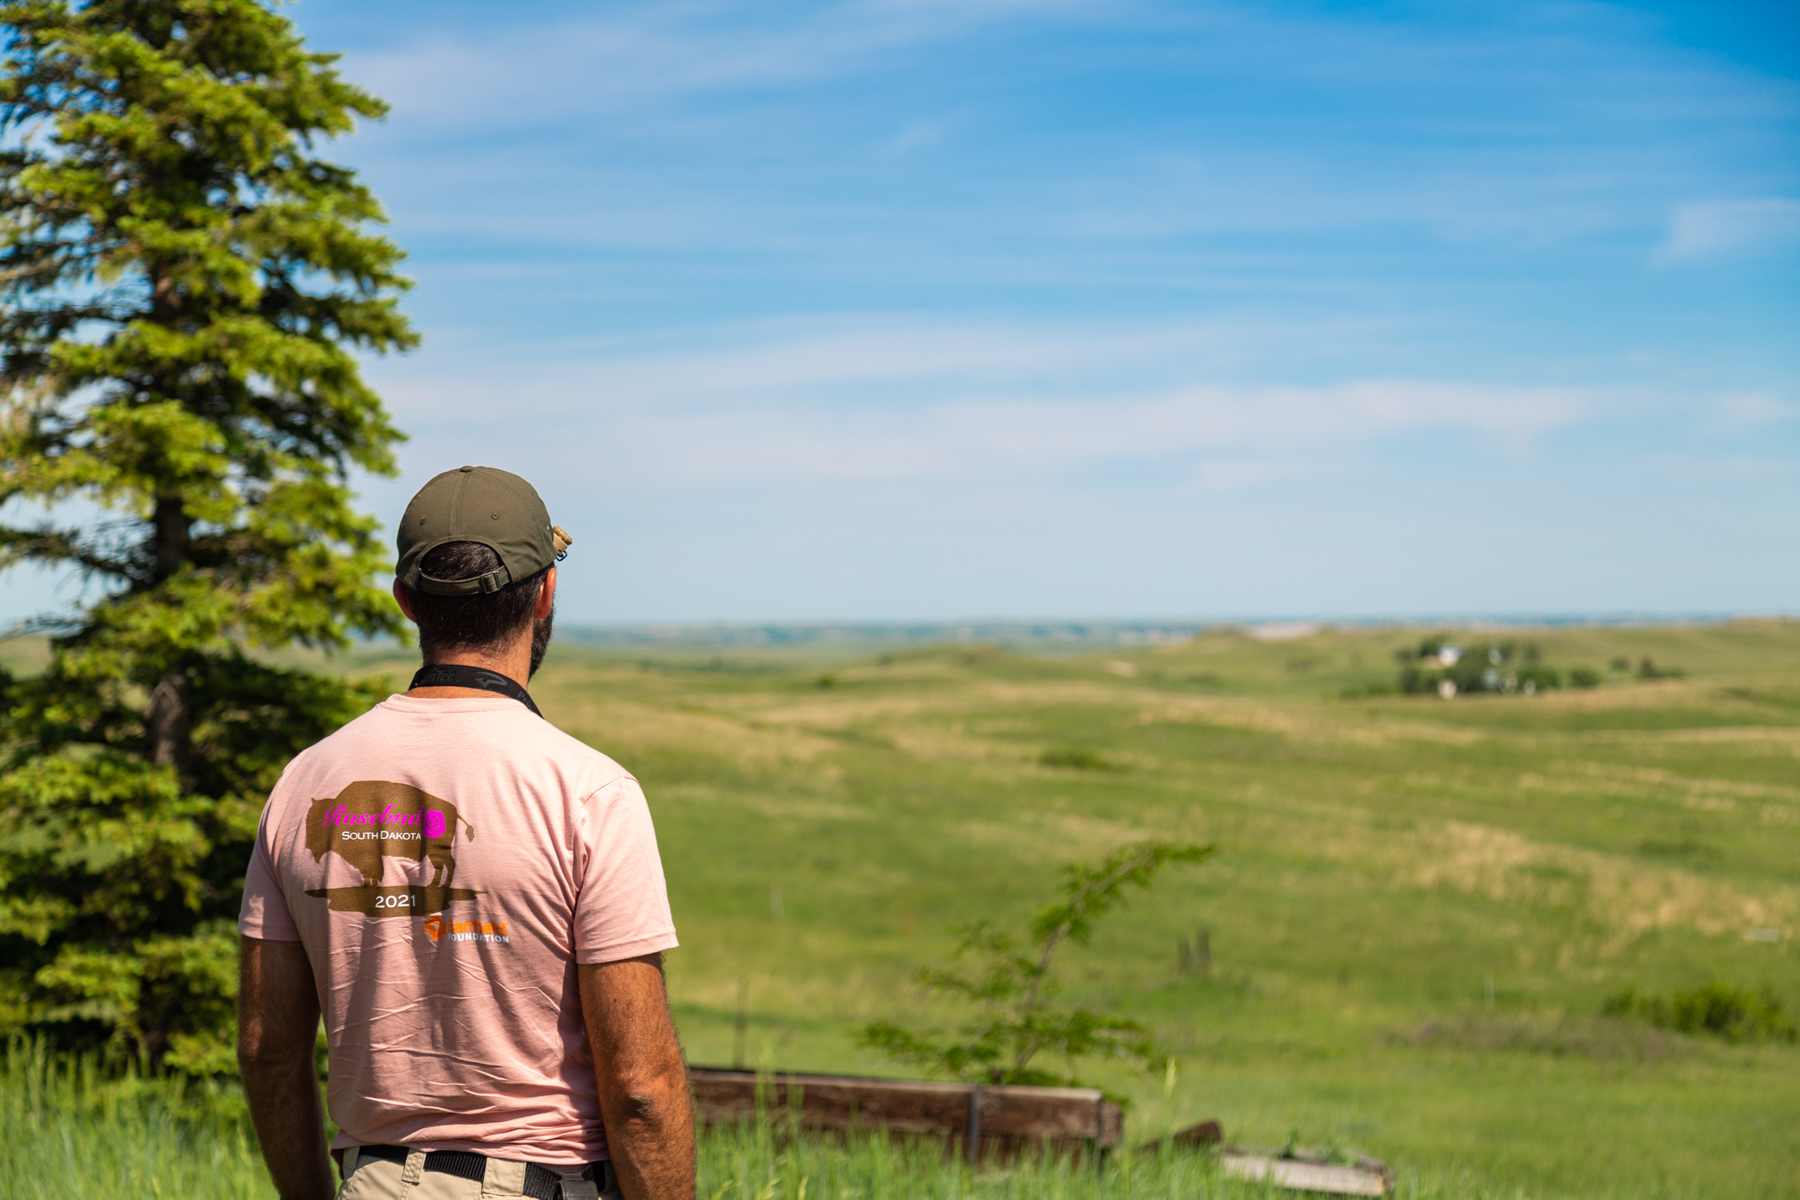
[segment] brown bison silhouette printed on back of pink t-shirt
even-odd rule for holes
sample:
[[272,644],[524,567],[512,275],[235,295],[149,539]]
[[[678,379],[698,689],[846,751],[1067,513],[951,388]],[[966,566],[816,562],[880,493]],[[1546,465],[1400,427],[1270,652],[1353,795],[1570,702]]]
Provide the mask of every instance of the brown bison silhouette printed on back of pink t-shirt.
[[356,867],[364,887],[380,885],[387,858],[430,862],[427,887],[450,887],[457,822],[468,837],[475,837],[475,826],[457,815],[455,804],[412,784],[360,779],[337,795],[311,802],[306,810],[306,849],[315,862],[337,855]]

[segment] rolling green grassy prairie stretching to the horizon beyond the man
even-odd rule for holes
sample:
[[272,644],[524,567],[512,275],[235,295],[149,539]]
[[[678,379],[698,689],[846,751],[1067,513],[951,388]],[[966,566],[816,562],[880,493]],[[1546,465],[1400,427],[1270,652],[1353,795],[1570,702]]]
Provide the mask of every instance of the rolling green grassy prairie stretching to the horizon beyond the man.
[[[1130,1097],[1134,1141],[1219,1117],[1246,1144],[1388,1159],[1417,1196],[1800,1193],[1800,1047],[1600,1015],[1627,986],[1708,981],[1800,1007],[1800,624],[1534,631],[1552,666],[1652,657],[1685,676],[1346,698],[1391,682],[1417,635],[1069,657],[558,648],[533,693],[650,793],[693,1061],[898,1072],[855,1029],[954,1018],[913,984],[950,927],[1022,921],[1060,865],[1181,837],[1217,858],[1064,963],[1069,997],[1177,1056],[1172,1079],[1087,1072]],[[398,655],[351,666],[385,662],[403,685]],[[1211,966],[1184,972],[1202,930]],[[727,1142],[709,1142],[711,1186],[740,1195]],[[877,1151],[832,1153],[806,1195],[958,1195],[954,1173],[889,1191],[857,1175]],[[1141,1175],[1129,1195],[1206,1187]]]

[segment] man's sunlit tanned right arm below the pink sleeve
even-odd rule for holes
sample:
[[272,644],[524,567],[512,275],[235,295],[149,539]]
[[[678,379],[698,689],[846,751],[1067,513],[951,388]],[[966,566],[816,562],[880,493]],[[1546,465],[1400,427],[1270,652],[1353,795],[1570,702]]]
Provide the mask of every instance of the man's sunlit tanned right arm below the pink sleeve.
[[693,1106],[662,986],[662,955],[578,970],[607,1150],[619,1186],[626,1200],[691,1200]]

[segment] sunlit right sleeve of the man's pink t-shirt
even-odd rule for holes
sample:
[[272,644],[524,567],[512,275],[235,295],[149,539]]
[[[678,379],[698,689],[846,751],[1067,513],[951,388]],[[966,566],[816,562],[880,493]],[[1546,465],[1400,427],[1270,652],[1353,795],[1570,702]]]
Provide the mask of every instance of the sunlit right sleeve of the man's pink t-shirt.
[[643,788],[630,775],[607,784],[587,801],[587,819],[576,847],[576,963],[670,950],[675,918]]

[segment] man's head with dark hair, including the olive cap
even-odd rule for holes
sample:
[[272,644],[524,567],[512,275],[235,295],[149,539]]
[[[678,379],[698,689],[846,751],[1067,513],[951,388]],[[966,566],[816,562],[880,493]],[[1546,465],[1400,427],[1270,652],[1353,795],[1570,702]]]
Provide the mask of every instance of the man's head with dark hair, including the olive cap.
[[556,613],[556,567],[574,540],[536,489],[491,466],[445,471],[400,518],[394,599],[427,662],[504,657],[529,631],[536,673]]

